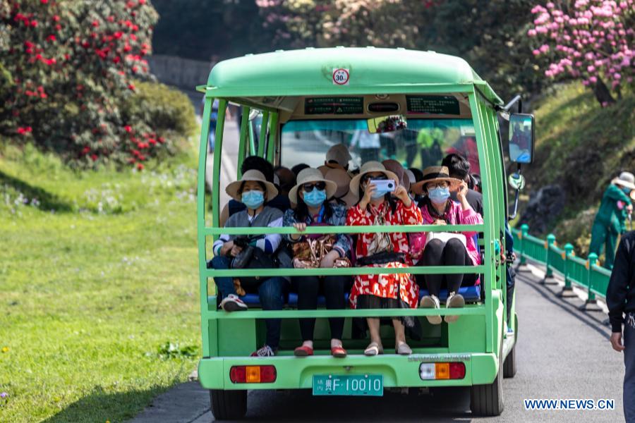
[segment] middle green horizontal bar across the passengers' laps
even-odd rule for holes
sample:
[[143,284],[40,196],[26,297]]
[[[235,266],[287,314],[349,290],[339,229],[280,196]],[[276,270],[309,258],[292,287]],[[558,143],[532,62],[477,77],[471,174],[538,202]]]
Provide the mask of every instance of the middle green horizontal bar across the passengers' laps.
[[201,271],[207,277],[234,277],[241,276],[335,276],[335,275],[380,275],[380,274],[482,274],[485,266],[411,266],[411,267],[339,267],[337,269],[327,269],[319,267],[317,269],[204,269]]

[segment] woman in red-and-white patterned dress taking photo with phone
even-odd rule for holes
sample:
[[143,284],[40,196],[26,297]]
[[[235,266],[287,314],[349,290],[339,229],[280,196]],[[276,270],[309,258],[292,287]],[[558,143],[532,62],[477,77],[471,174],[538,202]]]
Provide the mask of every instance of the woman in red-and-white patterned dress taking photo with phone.
[[[421,224],[421,210],[411,200],[406,188],[397,183],[397,176],[387,171],[377,161],[365,163],[360,173],[351,180],[350,189],[358,192],[361,200],[349,209],[346,224],[351,226],[370,225],[417,225]],[[392,183],[383,188],[377,184]],[[375,182],[375,183],[373,183]],[[408,254],[406,235],[401,232],[361,233],[356,244],[357,266],[401,268],[412,265]],[[355,277],[351,297],[352,308],[416,308],[418,286],[410,274],[358,275]],[[368,318],[370,344],[365,355],[383,353],[380,338],[380,319]],[[411,317],[392,319],[395,333],[395,353],[409,355],[412,350],[406,344],[406,327],[413,328]]]

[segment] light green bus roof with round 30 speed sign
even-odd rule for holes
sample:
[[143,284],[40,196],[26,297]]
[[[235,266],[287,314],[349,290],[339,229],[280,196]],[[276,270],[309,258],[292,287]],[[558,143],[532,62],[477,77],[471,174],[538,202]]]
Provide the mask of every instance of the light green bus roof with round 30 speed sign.
[[[338,84],[334,73],[339,73]],[[213,97],[391,94],[469,91],[476,85],[502,104],[490,85],[456,56],[434,51],[334,47],[248,54],[217,63],[207,85]]]

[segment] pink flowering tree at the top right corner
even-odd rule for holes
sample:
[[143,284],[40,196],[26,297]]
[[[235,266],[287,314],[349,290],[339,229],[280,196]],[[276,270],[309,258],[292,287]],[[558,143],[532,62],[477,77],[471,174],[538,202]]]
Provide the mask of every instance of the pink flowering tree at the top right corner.
[[603,106],[615,102],[610,90],[621,95],[623,85],[632,85],[634,0],[576,0],[569,8],[549,2],[531,12],[535,19],[527,35],[541,43],[534,56],[551,59],[546,76],[581,80]]

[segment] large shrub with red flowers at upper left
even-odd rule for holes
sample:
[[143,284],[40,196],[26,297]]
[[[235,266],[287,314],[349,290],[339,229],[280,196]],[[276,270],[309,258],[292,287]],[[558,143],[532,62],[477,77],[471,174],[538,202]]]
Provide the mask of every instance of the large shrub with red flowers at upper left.
[[157,18],[149,0],[0,0],[0,133],[78,167],[142,169],[169,141],[122,108],[150,77]]

